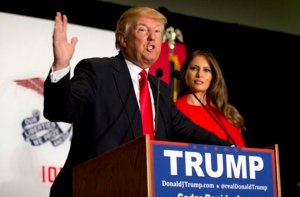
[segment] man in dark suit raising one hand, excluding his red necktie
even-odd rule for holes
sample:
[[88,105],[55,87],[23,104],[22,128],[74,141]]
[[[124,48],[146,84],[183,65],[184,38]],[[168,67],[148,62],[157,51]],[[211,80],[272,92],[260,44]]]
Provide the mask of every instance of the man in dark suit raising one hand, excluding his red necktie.
[[[119,54],[81,60],[70,80],[69,62],[77,38],[68,42],[67,17],[56,14],[54,62],[45,81],[44,116],[50,121],[72,123],[73,137],[67,160],[51,187],[51,197],[72,196],[74,166],[143,135],[138,73],[148,71],[158,59],[166,22],[161,13],[148,7],[124,12],[116,29]],[[157,78],[148,74],[148,81],[155,109]],[[158,114],[153,113],[159,117],[156,140],[231,145],[185,117],[163,81]]]

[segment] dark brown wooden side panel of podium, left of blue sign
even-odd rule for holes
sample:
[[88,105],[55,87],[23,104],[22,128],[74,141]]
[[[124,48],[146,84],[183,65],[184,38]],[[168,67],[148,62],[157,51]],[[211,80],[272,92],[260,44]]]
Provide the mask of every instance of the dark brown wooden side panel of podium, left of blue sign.
[[73,197],[152,196],[149,136],[73,168]]

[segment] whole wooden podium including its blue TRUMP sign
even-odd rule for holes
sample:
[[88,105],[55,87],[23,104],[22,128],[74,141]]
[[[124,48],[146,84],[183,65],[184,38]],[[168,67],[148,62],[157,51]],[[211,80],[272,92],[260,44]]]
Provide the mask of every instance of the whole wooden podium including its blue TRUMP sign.
[[74,167],[73,196],[281,197],[278,145],[238,148],[146,135]]

